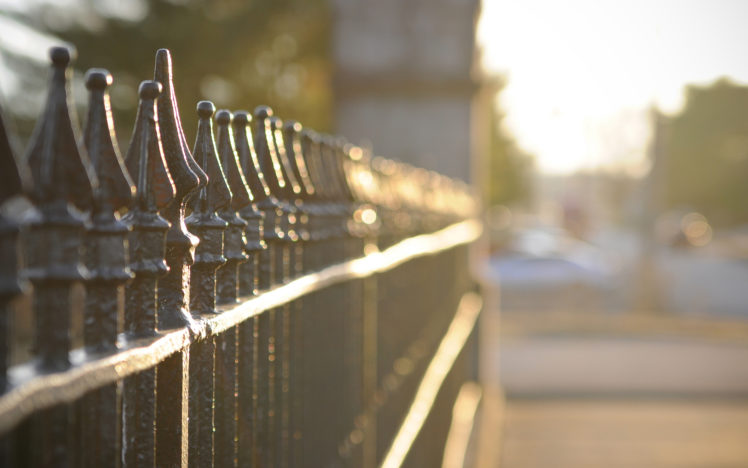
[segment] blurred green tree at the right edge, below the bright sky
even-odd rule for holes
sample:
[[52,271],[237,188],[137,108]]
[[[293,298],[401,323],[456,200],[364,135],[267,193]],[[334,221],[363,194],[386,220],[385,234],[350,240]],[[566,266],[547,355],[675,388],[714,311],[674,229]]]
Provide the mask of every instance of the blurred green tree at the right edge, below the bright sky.
[[716,225],[748,222],[748,87],[724,78],[689,87],[664,133],[665,207],[699,211]]

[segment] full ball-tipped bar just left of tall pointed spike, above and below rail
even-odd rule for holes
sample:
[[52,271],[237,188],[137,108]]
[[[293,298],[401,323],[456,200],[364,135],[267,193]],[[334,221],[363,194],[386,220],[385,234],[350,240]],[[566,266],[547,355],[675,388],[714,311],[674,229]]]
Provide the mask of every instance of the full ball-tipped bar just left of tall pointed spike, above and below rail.
[[[124,220],[132,227],[131,270],[135,279],[125,291],[125,331],[130,338],[153,336],[156,329],[158,278],[168,271],[164,260],[169,223],[158,210],[174,197],[156,120],[155,81],[140,85],[140,107],[126,157],[136,181],[136,197]],[[123,381],[122,452],[125,466],[155,466],[156,368]]]

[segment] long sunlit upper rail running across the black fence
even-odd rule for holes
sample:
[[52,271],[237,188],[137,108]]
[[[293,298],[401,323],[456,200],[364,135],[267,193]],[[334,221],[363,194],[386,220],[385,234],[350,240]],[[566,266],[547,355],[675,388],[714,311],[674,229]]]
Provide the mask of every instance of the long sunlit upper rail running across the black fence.
[[327,267],[257,297],[224,306],[220,314],[200,320],[192,329],[180,328],[126,342],[109,356],[88,356],[76,350],[71,353],[72,367],[62,372],[39,374],[33,361],[15,366],[9,372],[12,387],[0,396],[0,434],[36,411],[74,401],[86,392],[153,367],[193,341],[228,330],[265,310],[336,283],[387,271],[413,258],[470,243],[480,236],[481,230],[480,221],[471,219],[405,239],[384,251]]

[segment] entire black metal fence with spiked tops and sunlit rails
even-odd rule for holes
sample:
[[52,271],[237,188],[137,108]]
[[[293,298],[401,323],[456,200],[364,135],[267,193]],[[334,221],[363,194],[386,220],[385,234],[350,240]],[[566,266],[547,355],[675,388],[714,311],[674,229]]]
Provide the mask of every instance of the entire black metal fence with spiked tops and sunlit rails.
[[0,463],[438,466],[475,378],[468,188],[264,106],[198,103],[190,150],[163,49],[123,158],[111,75],[81,137],[51,59],[25,158],[0,122]]

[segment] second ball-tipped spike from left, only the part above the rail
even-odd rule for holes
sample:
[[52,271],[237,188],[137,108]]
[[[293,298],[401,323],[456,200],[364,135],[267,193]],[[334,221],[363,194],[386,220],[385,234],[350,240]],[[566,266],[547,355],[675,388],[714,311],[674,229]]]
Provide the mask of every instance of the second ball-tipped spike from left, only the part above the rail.
[[83,143],[99,180],[93,193],[85,252],[90,276],[86,282],[83,340],[92,352],[116,348],[121,313],[118,290],[132,278],[126,242],[130,229],[117,212],[131,203],[135,187],[117,146],[107,92],[111,83],[112,75],[106,70],[91,69],[86,74],[90,95]]

